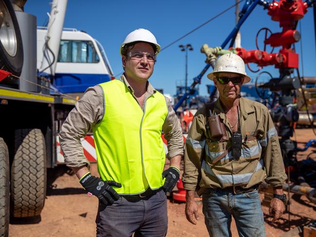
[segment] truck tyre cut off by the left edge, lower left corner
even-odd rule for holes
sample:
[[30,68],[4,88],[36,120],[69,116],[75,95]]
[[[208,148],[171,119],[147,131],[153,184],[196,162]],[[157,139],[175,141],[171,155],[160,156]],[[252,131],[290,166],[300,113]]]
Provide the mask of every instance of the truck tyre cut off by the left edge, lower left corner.
[[8,147],[0,137],[0,237],[9,235],[9,153]]

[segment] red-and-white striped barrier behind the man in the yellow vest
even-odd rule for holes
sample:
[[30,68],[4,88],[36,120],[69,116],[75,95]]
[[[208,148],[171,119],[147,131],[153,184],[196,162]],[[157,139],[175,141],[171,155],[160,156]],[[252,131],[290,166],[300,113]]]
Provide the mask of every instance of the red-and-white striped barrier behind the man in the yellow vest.
[[[186,137],[187,137],[187,134],[183,134],[184,143],[185,143]],[[167,140],[164,138],[163,134],[161,135],[161,138],[164,144],[165,152],[167,154],[168,153]],[[84,154],[87,157],[88,161],[91,163],[97,162],[97,154],[95,152],[93,135],[87,135],[84,138],[81,138],[81,144],[83,146]],[[56,136],[56,152],[57,152],[57,163],[64,164],[65,158],[60,148],[58,135]]]

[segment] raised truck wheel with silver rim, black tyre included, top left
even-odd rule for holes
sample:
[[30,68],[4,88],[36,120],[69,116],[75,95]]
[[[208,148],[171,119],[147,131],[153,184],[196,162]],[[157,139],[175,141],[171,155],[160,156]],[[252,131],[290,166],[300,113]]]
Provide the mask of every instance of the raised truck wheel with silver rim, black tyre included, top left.
[[0,68],[19,76],[23,66],[23,46],[10,0],[0,0],[0,12]]

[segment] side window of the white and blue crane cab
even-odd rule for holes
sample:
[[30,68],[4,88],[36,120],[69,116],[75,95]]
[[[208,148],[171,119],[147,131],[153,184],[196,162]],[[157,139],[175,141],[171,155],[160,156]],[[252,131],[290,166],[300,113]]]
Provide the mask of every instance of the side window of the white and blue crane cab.
[[59,63],[98,63],[99,56],[91,41],[61,40]]

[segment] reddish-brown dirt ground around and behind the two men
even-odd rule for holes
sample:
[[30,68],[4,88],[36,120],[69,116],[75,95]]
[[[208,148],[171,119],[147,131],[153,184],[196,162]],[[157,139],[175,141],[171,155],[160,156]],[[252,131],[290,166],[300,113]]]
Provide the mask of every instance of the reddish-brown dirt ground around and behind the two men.
[[[298,129],[296,132],[298,146],[303,142],[316,139],[311,129]],[[304,159],[307,153],[316,150],[309,148],[307,152],[298,155]],[[316,159],[316,153],[312,156]],[[92,164],[91,173],[97,174],[96,165]],[[263,194],[261,194],[263,198]],[[306,197],[291,195],[290,218],[291,228],[300,226],[307,221],[316,219],[316,204]],[[97,198],[89,197],[81,188],[78,179],[64,166],[49,170],[48,189],[45,206],[40,218],[32,223],[24,220],[12,220],[10,224],[10,237],[46,237],[46,236],[95,236],[95,216],[97,212]],[[200,220],[197,225],[189,223],[184,215],[184,203],[171,203],[168,201],[168,237],[207,237],[208,232],[204,225],[202,204],[198,203]],[[280,237],[288,231],[288,213],[284,213],[278,222],[272,223],[268,216],[268,207],[263,206],[266,234],[268,237]],[[232,222],[233,237],[237,237],[234,221]]]

